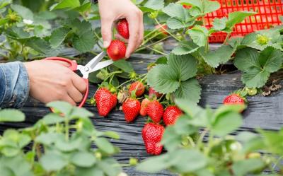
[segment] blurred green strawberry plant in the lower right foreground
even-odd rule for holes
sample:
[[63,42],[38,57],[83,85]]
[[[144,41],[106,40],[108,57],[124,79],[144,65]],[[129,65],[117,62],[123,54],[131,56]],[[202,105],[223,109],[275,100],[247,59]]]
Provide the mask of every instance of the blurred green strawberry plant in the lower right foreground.
[[[185,114],[164,131],[159,146],[168,152],[142,161],[138,170],[168,169],[184,176],[261,175],[266,169],[274,175],[282,174],[282,142],[278,142],[282,130],[258,129],[262,138],[247,131],[231,136],[242,124],[238,112],[243,105],[223,105],[214,111],[187,100],[176,103]],[[270,146],[272,143],[274,146]],[[262,154],[270,152],[274,155]]]

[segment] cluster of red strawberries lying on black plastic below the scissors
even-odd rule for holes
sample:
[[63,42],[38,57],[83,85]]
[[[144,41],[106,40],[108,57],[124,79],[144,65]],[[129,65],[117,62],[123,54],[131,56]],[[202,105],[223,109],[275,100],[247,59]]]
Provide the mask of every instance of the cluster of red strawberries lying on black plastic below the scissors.
[[[149,88],[149,94],[141,102],[138,98],[144,95],[146,88],[141,81],[135,81],[129,85],[128,97],[122,102],[122,111],[125,114],[126,122],[133,122],[139,115],[149,116],[151,122],[148,122],[142,129],[142,138],[146,146],[147,153],[158,155],[161,153],[163,146],[160,141],[163,136],[163,124],[172,125],[183,112],[175,105],[169,105],[163,109],[161,102],[157,98],[161,93],[157,93],[153,88]],[[109,88],[99,88],[95,95],[98,114],[107,116],[108,113],[116,107],[118,98],[117,93],[111,93]],[[163,119],[163,123],[161,121]]]

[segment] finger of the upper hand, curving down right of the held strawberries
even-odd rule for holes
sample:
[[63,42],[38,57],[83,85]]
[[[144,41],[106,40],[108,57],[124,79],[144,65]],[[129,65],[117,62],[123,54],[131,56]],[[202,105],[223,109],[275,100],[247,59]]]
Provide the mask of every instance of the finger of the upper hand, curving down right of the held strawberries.
[[132,13],[130,16],[126,17],[129,23],[129,44],[127,46],[126,57],[128,58],[132,52],[134,52],[137,47],[141,44],[143,37],[143,26],[141,27],[142,21],[142,12],[137,9],[135,13]]

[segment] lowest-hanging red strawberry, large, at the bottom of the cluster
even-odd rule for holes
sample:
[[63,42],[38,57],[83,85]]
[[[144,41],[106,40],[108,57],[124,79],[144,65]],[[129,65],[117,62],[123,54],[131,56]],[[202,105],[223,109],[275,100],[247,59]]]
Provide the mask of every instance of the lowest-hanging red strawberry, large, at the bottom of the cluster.
[[142,139],[146,146],[146,152],[152,155],[159,155],[163,146],[160,144],[164,127],[160,124],[149,123],[141,131]]

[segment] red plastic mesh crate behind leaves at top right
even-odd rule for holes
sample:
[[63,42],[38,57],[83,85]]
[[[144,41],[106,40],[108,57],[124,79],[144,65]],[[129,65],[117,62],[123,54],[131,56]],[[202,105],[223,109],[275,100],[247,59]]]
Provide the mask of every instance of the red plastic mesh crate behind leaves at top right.
[[[283,0],[217,0],[221,4],[218,11],[207,14],[207,27],[212,27],[214,18],[228,16],[233,11],[255,11],[255,16],[247,17],[242,23],[239,23],[233,29],[231,36],[244,36],[256,30],[263,30],[275,25],[281,21],[279,16],[283,16]],[[209,37],[209,42],[224,42],[226,33],[214,33]]]

